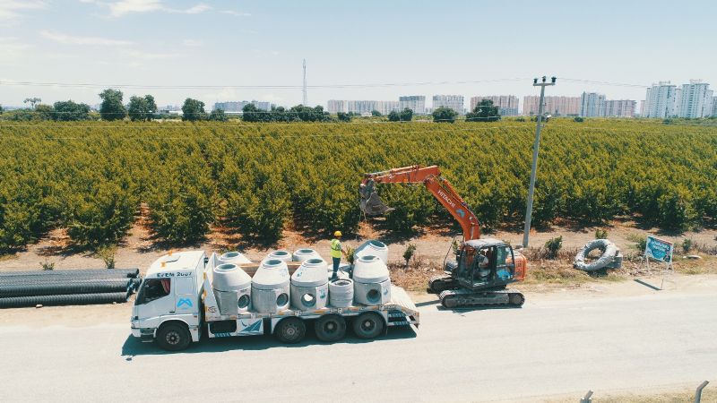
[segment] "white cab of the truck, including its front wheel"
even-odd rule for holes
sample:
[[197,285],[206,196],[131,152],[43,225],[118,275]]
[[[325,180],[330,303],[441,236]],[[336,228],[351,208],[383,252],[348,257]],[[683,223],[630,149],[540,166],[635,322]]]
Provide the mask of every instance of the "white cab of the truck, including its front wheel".
[[203,251],[168,253],[151,264],[132,308],[134,337],[168,350],[199,341],[205,258]]

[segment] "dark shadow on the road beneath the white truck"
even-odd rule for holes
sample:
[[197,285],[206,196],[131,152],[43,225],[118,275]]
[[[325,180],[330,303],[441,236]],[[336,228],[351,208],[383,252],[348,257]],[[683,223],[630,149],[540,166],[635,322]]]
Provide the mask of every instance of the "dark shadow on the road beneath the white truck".
[[125,357],[126,361],[132,361],[134,356],[162,356],[166,354],[195,354],[195,353],[220,353],[224,351],[234,350],[266,350],[272,348],[301,348],[307,346],[329,346],[332,344],[366,344],[366,343],[380,343],[384,340],[393,339],[413,339],[416,337],[416,331],[410,326],[397,326],[389,328],[388,334],[385,336],[379,336],[376,339],[358,339],[350,331],[347,331],[346,339],[337,341],[335,343],[324,343],[319,341],[315,337],[314,330],[311,326],[308,326],[307,337],[304,341],[298,344],[281,344],[278,340],[272,336],[255,336],[255,337],[233,337],[233,338],[219,338],[209,339],[206,332],[202,335],[202,339],[198,343],[192,343],[189,348],[184,351],[177,353],[162,350],[155,343],[143,343],[139,339],[134,338],[132,335],[128,335],[125,339],[125,344],[122,345],[122,356]]

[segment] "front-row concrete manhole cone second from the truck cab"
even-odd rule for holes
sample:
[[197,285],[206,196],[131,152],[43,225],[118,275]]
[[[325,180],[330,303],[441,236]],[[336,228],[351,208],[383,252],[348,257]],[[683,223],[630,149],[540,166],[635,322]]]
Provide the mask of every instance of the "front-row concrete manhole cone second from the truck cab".
[[279,259],[264,260],[252,279],[254,310],[258,313],[278,313],[288,309],[289,281],[286,262]]

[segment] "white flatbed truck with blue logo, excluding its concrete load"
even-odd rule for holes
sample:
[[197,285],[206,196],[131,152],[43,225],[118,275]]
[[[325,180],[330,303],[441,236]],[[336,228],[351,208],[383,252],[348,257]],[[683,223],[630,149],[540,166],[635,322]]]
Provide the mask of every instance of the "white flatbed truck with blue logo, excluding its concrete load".
[[[336,341],[344,337],[347,324],[361,339],[373,339],[388,327],[419,326],[419,311],[401,287],[391,286],[388,304],[321,309],[289,309],[257,313],[249,309],[238,314],[221,314],[212,292],[215,256],[203,251],[169,253],[153,262],[144,276],[132,309],[132,335],[142,341],[156,341],[167,350],[182,350],[202,337],[273,334],[282,342],[298,343],[313,325],[318,339]],[[242,270],[253,276],[258,263],[244,263]],[[289,272],[298,263],[289,263]]]

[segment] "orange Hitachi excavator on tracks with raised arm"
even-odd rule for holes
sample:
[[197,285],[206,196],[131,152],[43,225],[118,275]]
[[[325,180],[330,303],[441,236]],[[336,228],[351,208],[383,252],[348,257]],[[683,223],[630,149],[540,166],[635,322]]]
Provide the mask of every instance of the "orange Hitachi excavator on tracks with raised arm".
[[445,308],[523,305],[523,294],[507,286],[525,278],[525,257],[503,241],[480,238],[478,218],[441,176],[437,166],[414,165],[364,174],[358,193],[360,209],[367,216],[384,215],[392,210],[376,193],[376,184],[424,184],[461,224],[463,240],[455,253],[455,261],[445,263],[445,275],[428,282],[428,288],[440,296]]

